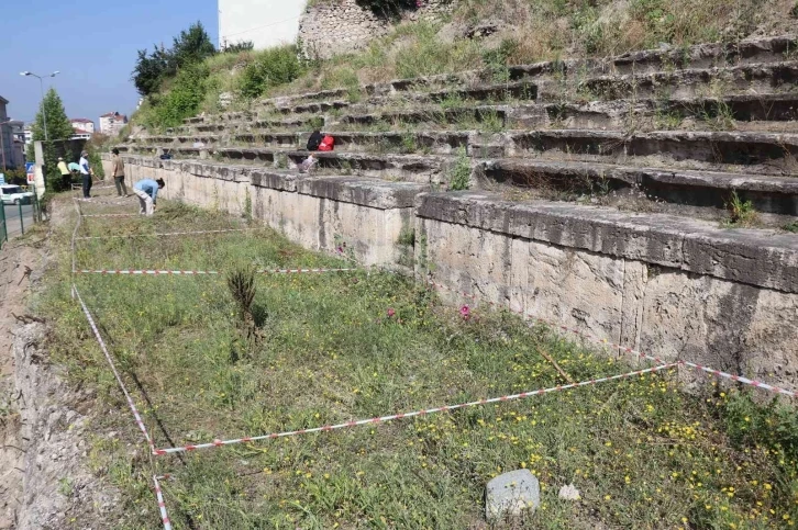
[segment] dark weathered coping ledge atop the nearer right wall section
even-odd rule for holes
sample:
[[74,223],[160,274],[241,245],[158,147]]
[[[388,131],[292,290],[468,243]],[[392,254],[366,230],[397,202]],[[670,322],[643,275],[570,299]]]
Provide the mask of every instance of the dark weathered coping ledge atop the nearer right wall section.
[[[418,215],[798,293],[798,239],[789,234],[565,203],[519,204],[475,192],[420,195]],[[754,257],[767,263],[757,267]]]

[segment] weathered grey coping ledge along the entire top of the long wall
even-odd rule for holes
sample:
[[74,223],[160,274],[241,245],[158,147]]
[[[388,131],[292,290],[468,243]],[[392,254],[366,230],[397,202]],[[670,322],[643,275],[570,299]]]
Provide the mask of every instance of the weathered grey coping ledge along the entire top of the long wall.
[[729,229],[717,223],[676,215],[630,213],[565,202],[518,203],[485,191],[430,192],[426,185],[352,174],[301,176],[293,171],[212,160],[125,158],[129,165],[145,169],[163,168],[173,173],[246,183],[341,203],[373,208],[412,207],[414,215],[422,218],[798,293],[798,237],[775,230]]

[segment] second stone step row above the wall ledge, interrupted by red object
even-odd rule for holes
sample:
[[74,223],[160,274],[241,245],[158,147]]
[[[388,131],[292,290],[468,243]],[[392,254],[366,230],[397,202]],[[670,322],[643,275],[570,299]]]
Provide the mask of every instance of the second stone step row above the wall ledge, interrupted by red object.
[[[147,146],[174,153],[220,153],[239,145],[301,149],[309,133],[206,135],[155,137],[120,150]],[[375,154],[462,154],[474,158],[545,158],[596,162],[630,162],[673,166],[679,169],[720,170],[752,174],[798,176],[798,134],[761,132],[657,131],[627,133],[594,129],[432,132],[339,132],[339,151]],[[152,150],[152,149],[151,149]]]

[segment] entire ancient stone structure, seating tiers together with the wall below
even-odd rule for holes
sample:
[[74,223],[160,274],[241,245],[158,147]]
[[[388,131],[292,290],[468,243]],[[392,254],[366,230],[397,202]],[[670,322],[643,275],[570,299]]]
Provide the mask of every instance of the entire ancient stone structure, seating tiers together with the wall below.
[[[772,37],[273,98],[119,148],[167,199],[414,272],[451,303],[793,388],[796,50]],[[335,150],[300,174],[317,128]]]

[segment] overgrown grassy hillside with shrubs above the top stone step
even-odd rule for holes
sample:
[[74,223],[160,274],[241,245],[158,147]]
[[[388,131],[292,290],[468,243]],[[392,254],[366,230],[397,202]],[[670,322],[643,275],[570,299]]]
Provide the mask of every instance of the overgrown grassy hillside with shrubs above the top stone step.
[[[262,52],[231,47],[228,53],[210,54],[196,38],[188,38],[197,33],[192,26],[175,40],[173,49],[180,44],[195,50],[184,54],[189,58],[206,54],[199,69],[204,75],[192,84],[196,90],[184,88],[181,94],[168,97],[173,88],[189,80],[176,79],[180,74],[174,68],[171,50],[156,49],[153,60],[160,66],[145,75],[152,87],[140,89],[151,101],[134,121],[153,128],[168,127],[175,125],[176,116],[188,117],[188,112],[242,110],[256,98],[318,89],[347,89],[347,99],[356,102],[363,97],[362,83],[478,68],[494,71],[495,81],[501,82],[507,80],[510,64],[608,56],[662,45],[736,42],[755,32],[787,32],[790,9],[789,2],[780,0],[457,0],[450,20],[401,23],[362,52],[329,60],[299,60],[292,46]],[[490,36],[468,37],[469,29],[484,21],[490,21]],[[189,46],[191,43],[197,45]],[[159,110],[154,112],[154,108]],[[713,117],[720,128],[729,127],[722,113]]]

